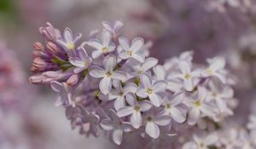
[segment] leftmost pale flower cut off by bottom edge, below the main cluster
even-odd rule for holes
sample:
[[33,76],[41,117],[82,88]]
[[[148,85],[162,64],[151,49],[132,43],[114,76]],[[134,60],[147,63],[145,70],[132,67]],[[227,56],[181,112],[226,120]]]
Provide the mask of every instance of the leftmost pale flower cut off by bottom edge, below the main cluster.
[[184,144],[183,149],[208,149],[218,142],[218,134],[212,133],[202,138],[193,135],[193,141]]

